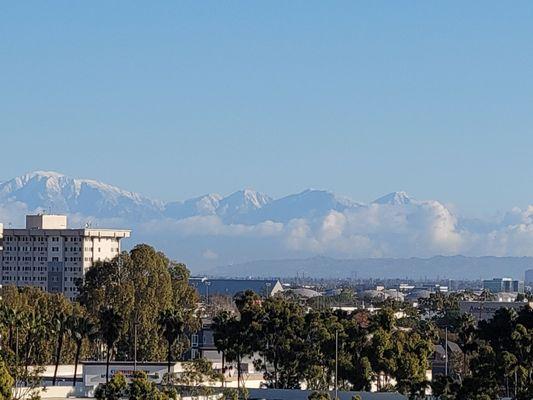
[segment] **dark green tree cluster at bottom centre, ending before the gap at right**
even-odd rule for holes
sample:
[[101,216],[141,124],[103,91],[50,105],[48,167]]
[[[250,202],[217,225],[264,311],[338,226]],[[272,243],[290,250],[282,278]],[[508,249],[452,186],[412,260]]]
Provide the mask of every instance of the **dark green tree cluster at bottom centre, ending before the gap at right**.
[[[214,338],[224,362],[255,357],[271,388],[327,391],[398,390],[422,395],[435,330],[422,320],[399,320],[391,308],[370,315],[331,309],[307,310],[291,299],[260,301],[250,291],[235,298],[238,314],[214,318]],[[337,353],[337,371],[335,360]],[[396,386],[392,387],[393,380]]]

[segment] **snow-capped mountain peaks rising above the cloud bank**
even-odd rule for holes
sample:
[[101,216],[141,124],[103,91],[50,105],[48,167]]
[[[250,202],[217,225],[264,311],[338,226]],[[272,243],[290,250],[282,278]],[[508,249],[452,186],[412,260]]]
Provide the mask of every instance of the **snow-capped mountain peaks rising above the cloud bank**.
[[[264,221],[289,222],[313,219],[331,211],[364,207],[325,190],[308,189],[279,199],[252,189],[228,196],[217,193],[164,203],[138,193],[90,179],[76,179],[49,171],[36,171],[0,183],[0,206],[17,202],[28,212],[76,214],[91,218],[123,218],[130,223],[148,220],[182,220],[218,216],[225,224],[254,225]],[[377,204],[405,205],[405,192],[388,194]]]

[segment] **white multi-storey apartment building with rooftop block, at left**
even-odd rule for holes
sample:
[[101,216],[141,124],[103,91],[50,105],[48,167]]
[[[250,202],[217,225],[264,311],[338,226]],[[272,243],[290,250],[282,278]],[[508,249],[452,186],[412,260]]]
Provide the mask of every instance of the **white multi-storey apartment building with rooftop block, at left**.
[[78,294],[76,282],[87,269],[118,255],[121,239],[130,233],[68,229],[65,215],[27,215],[25,229],[3,230],[3,248],[0,233],[0,284],[37,286],[72,299]]

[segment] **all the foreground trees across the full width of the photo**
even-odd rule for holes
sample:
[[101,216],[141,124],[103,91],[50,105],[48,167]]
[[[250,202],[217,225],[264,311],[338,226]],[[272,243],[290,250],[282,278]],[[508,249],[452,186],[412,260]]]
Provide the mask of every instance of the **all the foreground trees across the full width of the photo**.
[[[200,298],[188,279],[185,265],[138,245],[89,269],[73,302],[36,288],[4,287],[0,399],[2,385],[34,381],[36,370],[30,367],[35,365],[55,364],[57,372],[59,364],[77,368],[79,360],[166,359],[170,371],[171,362],[189,348],[189,334],[200,327]],[[355,299],[353,293],[340,296]],[[336,382],[339,390],[373,386],[412,398],[422,397],[430,386],[448,400],[533,398],[532,311],[501,310],[478,325],[459,313],[458,301],[465,296],[472,294],[434,294],[419,308],[389,300],[370,314],[334,311],[323,302],[283,294],[260,299],[248,291],[206,311],[214,317],[223,369],[235,365],[240,386],[240,366],[252,359],[272,388],[319,393]],[[450,360],[449,376],[430,383],[426,371],[444,330],[464,353]],[[138,379],[145,385],[142,376]],[[116,383],[103,387],[103,396]],[[121,390],[130,389],[122,385]]]

